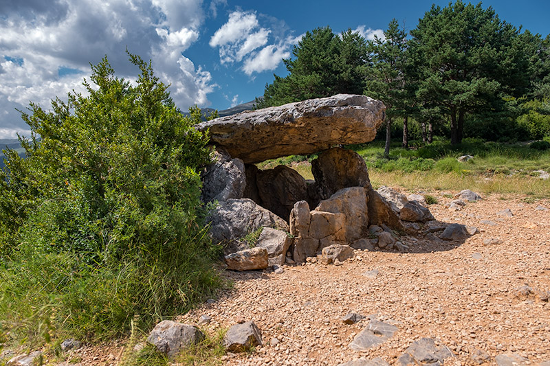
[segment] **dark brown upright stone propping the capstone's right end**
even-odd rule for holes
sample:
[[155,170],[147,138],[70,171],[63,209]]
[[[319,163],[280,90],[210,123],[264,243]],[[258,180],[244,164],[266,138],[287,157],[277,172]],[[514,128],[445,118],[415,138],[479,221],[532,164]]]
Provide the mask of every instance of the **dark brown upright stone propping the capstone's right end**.
[[316,187],[321,199],[347,187],[366,187],[371,190],[369,172],[364,159],[355,151],[331,148],[311,161]]

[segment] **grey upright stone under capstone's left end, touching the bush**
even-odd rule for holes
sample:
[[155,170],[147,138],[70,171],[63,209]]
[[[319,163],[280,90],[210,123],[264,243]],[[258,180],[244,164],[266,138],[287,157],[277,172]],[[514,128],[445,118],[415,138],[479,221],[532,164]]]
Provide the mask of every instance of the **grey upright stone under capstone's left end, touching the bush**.
[[246,186],[245,165],[241,159],[231,159],[223,148],[214,150],[214,163],[201,174],[202,201],[227,201],[243,198]]

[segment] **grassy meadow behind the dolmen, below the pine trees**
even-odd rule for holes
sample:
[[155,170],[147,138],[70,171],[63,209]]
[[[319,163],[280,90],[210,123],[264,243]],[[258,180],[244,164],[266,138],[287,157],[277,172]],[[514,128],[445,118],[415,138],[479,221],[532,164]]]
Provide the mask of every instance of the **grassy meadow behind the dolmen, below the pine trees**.
[[[471,189],[550,197],[549,181],[540,179],[540,171],[550,172],[550,150],[533,148],[533,143],[505,144],[481,139],[465,139],[458,145],[445,139],[436,139],[432,144],[416,143],[417,148],[393,144],[388,158],[384,157],[384,141],[348,147],[365,159],[374,187],[396,185],[410,191]],[[463,155],[473,158],[458,161]],[[259,168],[283,164],[305,179],[314,179],[309,162],[315,158],[316,155],[284,157],[265,161]]]

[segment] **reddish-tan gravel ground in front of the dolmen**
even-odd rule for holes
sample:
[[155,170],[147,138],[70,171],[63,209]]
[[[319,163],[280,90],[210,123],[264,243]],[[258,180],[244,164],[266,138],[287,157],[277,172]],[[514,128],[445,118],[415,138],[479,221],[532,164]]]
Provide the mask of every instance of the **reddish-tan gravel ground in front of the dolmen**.
[[[394,365],[423,337],[452,350],[445,365],[496,365],[500,354],[518,354],[529,365],[550,361],[550,201],[493,194],[450,211],[445,203],[455,193],[431,192],[439,203],[430,210],[441,222],[479,229],[464,242],[404,237],[408,253],[355,251],[341,266],[226,271],[233,288],[178,320],[197,323],[208,315],[212,321],[201,327],[212,334],[254,321],[263,346],[227,354],[225,365],[339,365],[375,357]],[[499,216],[503,209],[514,216]],[[382,345],[355,352],[349,343],[369,319],[344,324],[350,312],[376,314],[399,330]],[[89,349],[89,356],[86,349],[77,353],[83,365],[115,365],[121,350],[111,345]],[[472,359],[478,350],[489,361]]]

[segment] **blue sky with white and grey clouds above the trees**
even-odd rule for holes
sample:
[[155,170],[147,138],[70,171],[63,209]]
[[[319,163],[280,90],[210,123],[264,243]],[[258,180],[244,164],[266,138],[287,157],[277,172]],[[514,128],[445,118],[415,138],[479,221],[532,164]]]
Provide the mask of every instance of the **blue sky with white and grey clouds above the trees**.
[[[124,49],[153,60],[176,104],[225,109],[263,95],[273,73],[285,75],[302,34],[330,25],[366,38],[392,18],[412,30],[432,3],[448,1],[2,0],[0,139],[28,127],[15,108],[49,106],[55,95],[83,91],[89,62],[107,54],[119,76],[136,70]],[[550,1],[483,1],[500,19],[550,33]]]

